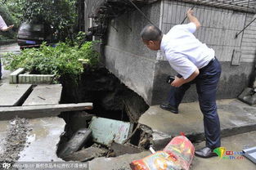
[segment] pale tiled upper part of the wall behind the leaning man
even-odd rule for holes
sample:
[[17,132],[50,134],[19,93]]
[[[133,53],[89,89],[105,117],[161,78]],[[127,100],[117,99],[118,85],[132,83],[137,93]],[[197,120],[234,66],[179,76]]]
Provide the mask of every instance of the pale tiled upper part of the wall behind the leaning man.
[[[193,7],[191,3],[164,0],[162,6],[162,30],[164,34],[173,25],[181,24],[186,11]],[[241,60],[253,62],[256,53],[256,21],[245,29],[244,34],[235,38],[236,33],[244,28],[254,15],[241,11],[233,11],[218,7],[196,5],[195,16],[200,20],[201,28],[195,32],[195,37],[216,51],[221,61],[231,61],[234,49],[241,50]],[[185,23],[188,21],[186,20]]]

